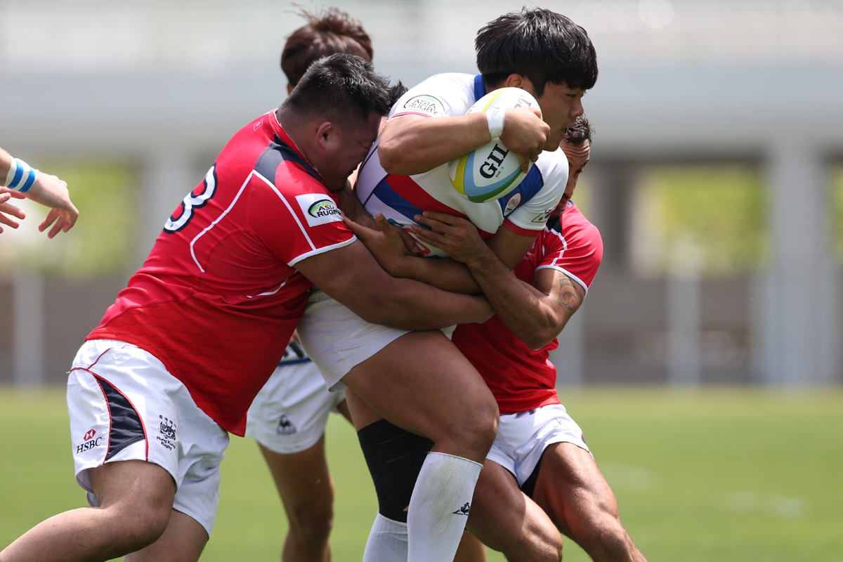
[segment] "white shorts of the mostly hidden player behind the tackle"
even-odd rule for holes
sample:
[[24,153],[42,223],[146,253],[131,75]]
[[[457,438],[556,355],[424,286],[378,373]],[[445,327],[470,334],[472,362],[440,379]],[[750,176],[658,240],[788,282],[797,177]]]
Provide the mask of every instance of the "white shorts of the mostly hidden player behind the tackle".
[[281,454],[305,451],[319,441],[330,411],[344,399],[325,388],[313,361],[282,362],[252,402],[246,436]]

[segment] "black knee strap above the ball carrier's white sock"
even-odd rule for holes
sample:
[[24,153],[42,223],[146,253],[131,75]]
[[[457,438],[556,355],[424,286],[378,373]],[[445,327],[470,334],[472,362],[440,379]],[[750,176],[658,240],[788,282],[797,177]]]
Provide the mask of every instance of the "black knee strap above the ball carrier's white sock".
[[404,510],[410,505],[421,465],[433,442],[393,426],[387,420],[376,421],[357,431],[357,439],[369,474],[372,474],[378,511],[393,521],[407,522]]

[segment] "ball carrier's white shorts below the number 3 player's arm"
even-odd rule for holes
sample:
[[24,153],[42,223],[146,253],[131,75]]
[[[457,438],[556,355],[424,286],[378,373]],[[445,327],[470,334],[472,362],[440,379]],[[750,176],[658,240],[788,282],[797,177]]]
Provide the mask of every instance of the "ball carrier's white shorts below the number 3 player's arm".
[[296,331],[331,392],[347,388],[340,379],[352,368],[409,334],[404,329],[369,324],[316,288],[310,293]]

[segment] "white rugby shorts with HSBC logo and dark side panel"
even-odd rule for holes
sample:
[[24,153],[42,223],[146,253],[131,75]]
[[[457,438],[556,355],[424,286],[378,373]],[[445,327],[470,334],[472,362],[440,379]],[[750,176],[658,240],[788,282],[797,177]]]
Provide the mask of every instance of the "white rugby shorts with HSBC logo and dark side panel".
[[89,468],[155,463],[175,480],[173,508],[210,536],[228,432],[196,406],[161,361],[126,342],[86,341],[67,380],[67,409],[76,480],[91,506],[98,504]]

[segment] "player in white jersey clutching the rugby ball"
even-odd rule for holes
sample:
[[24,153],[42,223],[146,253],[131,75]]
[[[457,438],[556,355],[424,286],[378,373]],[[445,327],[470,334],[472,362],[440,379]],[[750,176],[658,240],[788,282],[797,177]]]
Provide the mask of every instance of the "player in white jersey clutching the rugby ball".
[[[403,227],[424,210],[469,217],[513,267],[561,199],[566,159],[542,151],[556,151],[566,127],[583,114],[581,98],[597,79],[597,61],[584,29],[543,9],[496,19],[481,29],[476,45],[481,75],[432,77],[395,104],[362,165],[357,196],[367,211]],[[535,110],[507,110],[501,132],[483,112],[465,115],[484,94],[507,86],[532,94],[545,120]],[[470,203],[450,186],[447,163],[489,142],[492,131],[524,169],[529,161],[535,165],[500,201]],[[422,252],[445,255],[423,244]],[[437,268],[437,282],[480,291],[464,265],[436,261],[455,266]],[[395,426],[432,440],[407,511],[408,559],[453,559],[497,421],[497,405],[487,407],[488,389],[477,386],[480,375],[441,332],[368,324],[319,292],[310,298],[299,337],[329,388],[347,385]],[[448,389],[437,378],[448,380]]]

